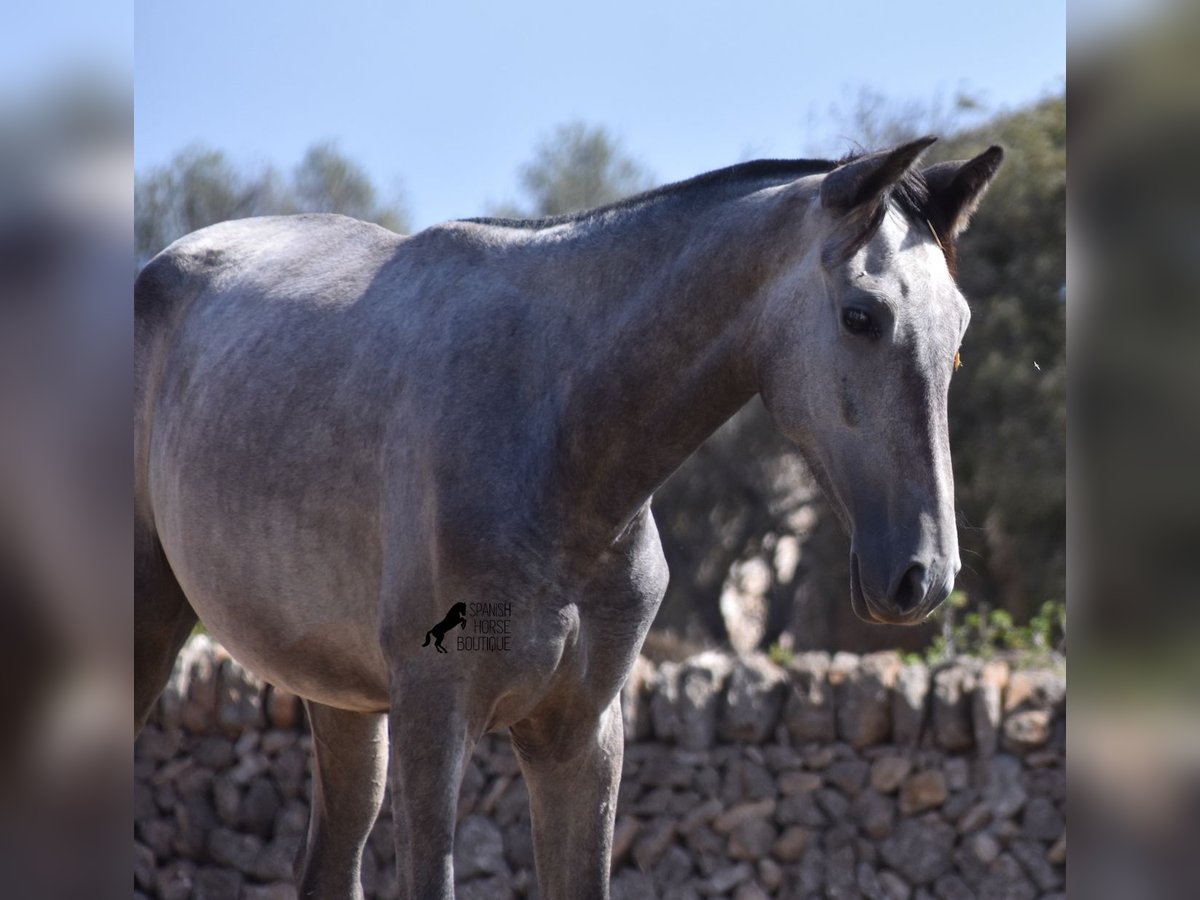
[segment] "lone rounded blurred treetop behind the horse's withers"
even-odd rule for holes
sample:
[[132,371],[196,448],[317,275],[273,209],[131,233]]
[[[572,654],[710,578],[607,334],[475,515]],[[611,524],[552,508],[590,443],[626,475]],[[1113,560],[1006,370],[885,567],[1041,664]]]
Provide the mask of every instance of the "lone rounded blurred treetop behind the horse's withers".
[[653,179],[628,156],[604,126],[575,121],[559,125],[521,167],[527,205],[496,208],[505,216],[557,216],[613,203],[653,186]]

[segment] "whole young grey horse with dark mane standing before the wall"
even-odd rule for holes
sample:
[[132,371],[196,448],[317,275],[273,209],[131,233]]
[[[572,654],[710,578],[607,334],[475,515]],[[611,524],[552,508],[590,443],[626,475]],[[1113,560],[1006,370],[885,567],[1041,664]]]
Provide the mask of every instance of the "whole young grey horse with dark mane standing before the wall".
[[460,781],[499,728],[540,895],[607,896],[619,691],[667,582],[650,494],[721,422],[761,394],[799,445],[860,616],[950,590],[954,241],[1002,152],[922,169],[930,143],[557,218],[168,247],[136,288],[136,730],[199,617],[305,698],[302,896],[362,895],[390,779],[401,894],[452,898]]

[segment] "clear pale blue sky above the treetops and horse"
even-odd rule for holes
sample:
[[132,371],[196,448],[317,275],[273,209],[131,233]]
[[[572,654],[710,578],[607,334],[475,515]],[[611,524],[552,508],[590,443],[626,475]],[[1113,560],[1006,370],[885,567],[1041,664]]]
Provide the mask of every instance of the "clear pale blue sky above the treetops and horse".
[[1063,2],[575,5],[137,0],[137,170],[193,142],[293,166],[334,139],[416,227],[515,199],[556,125],[605,125],[659,181],[839,151],[828,110],[1062,89]]

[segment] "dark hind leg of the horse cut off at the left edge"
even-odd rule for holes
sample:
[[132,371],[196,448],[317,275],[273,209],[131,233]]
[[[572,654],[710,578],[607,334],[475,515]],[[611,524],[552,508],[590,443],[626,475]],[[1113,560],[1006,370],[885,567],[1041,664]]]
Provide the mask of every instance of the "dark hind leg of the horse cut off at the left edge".
[[145,725],[170,678],[175,656],[197,622],[170,570],[158,536],[146,526],[133,535],[133,733]]

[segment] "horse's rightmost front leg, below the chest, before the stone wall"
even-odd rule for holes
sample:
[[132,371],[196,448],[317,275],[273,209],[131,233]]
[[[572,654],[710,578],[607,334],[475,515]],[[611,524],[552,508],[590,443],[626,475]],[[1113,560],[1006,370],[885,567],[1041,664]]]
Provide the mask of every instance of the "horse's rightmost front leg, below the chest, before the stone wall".
[[512,728],[529,787],[539,895],[542,900],[607,900],[625,746],[620,696],[600,714],[582,744],[557,750],[556,739],[546,740],[554,731],[554,725],[547,732],[545,725],[526,722]]

